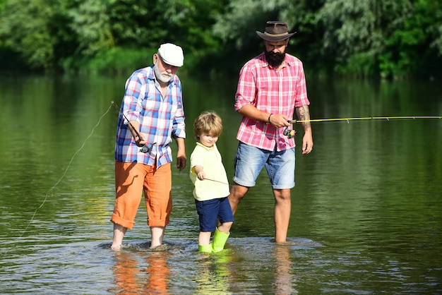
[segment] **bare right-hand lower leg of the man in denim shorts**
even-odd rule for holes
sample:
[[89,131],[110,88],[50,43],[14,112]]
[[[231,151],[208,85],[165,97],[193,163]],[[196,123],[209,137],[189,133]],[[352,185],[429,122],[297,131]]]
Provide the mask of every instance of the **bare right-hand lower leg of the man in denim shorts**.
[[289,229],[292,209],[290,190],[273,190],[273,195],[275,195],[275,243],[282,243],[287,240],[287,230]]

